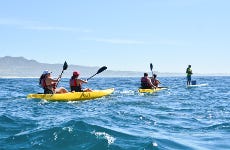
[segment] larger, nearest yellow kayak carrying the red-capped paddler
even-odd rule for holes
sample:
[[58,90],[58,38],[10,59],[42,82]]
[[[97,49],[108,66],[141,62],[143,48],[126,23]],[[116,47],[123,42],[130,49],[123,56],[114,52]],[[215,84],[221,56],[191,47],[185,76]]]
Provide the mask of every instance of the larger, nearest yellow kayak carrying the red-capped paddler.
[[28,99],[45,99],[52,101],[80,101],[100,98],[113,93],[114,88],[94,90],[93,92],[69,92],[64,94],[28,94]]

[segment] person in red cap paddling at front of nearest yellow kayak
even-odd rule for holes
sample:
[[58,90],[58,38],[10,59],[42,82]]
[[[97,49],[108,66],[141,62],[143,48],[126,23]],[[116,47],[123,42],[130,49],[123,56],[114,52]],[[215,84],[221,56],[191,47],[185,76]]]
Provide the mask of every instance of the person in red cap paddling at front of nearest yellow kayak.
[[82,89],[82,84],[87,83],[87,80],[78,79],[80,73],[78,71],[73,72],[73,76],[70,78],[69,84],[71,92],[92,92],[91,89]]

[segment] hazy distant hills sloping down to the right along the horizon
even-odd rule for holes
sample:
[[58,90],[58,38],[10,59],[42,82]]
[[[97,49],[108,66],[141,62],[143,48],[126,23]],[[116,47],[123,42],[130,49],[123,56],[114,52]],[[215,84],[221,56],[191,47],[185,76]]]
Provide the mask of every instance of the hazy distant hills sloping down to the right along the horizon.
[[[67,62],[68,63],[68,62]],[[82,77],[90,77],[102,67],[87,67],[79,65],[69,65],[64,71],[63,77],[70,77],[74,70],[81,72]],[[63,64],[40,63],[36,60],[28,60],[24,57],[0,57],[0,77],[40,77],[43,70],[50,70],[54,77],[58,77],[63,68]],[[134,71],[112,71],[109,68],[97,75],[97,77],[139,77],[143,72]]]

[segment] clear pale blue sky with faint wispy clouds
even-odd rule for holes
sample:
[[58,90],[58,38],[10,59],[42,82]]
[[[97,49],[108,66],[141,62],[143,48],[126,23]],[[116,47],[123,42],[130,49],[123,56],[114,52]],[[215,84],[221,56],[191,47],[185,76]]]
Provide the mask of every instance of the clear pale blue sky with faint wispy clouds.
[[229,0],[0,1],[0,57],[230,73]]

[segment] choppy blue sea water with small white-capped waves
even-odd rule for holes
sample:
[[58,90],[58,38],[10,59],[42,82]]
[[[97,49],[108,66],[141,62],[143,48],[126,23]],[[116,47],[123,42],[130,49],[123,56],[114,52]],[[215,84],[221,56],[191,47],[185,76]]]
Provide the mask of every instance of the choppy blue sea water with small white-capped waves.
[[[0,149],[230,149],[230,77],[159,79],[166,90],[137,92],[139,78],[92,78],[85,87],[115,88],[96,100],[29,100],[38,79],[0,79]],[[60,86],[68,87],[68,79]]]

